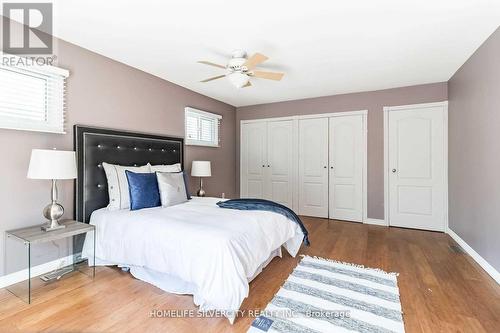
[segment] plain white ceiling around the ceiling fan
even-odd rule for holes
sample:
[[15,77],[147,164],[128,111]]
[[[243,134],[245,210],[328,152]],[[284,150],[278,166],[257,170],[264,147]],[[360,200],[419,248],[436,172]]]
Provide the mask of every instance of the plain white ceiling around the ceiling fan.
[[[498,0],[55,0],[55,35],[234,106],[447,81],[500,24]],[[281,82],[199,81],[234,49]]]

